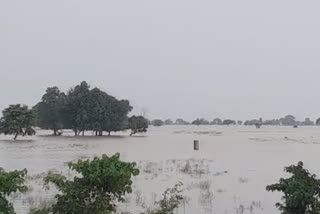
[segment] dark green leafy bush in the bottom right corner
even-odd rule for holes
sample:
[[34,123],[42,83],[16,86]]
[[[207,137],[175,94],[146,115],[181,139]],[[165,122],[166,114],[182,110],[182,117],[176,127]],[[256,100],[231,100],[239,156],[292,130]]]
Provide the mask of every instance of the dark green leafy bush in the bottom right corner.
[[320,181],[316,175],[303,168],[303,163],[285,168],[292,174],[289,178],[281,178],[279,183],[267,186],[267,191],[282,192],[282,203],[277,208],[282,214],[319,214],[320,213]]

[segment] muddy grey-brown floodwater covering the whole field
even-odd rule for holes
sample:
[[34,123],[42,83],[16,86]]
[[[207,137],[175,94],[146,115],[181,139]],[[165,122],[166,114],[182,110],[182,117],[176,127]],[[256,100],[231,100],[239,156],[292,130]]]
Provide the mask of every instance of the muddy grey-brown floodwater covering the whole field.
[[[68,161],[116,152],[125,161],[137,162],[141,170],[133,193],[120,205],[121,211],[131,213],[152,207],[178,181],[186,196],[178,214],[279,213],[274,204],[281,194],[265,187],[286,176],[285,166],[303,161],[320,176],[319,127],[164,126],[137,137],[48,134],[38,131],[17,142],[0,136],[0,166],[27,168],[27,183],[32,186],[25,195],[12,196],[18,214],[52,200],[54,190],[45,191],[41,183],[48,170],[68,173]],[[193,150],[193,140],[200,141],[199,151]]]

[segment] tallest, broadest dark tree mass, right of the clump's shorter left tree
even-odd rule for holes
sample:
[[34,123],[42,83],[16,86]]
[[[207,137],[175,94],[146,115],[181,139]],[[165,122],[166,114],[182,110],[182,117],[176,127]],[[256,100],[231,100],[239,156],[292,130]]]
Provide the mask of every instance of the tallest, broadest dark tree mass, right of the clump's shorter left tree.
[[117,100],[99,88],[90,90],[86,82],[72,88],[66,98],[65,112],[68,126],[75,135],[92,130],[102,136],[125,130],[128,127],[128,113],[132,110],[128,100]]

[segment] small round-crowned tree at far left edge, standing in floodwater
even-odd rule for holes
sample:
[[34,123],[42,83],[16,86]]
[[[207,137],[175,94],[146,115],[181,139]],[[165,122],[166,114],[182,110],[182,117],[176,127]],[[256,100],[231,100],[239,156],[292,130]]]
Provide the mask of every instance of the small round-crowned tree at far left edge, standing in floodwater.
[[0,133],[5,135],[14,135],[14,140],[18,135],[34,135],[32,128],[35,122],[35,116],[32,110],[26,105],[10,105],[3,110],[3,117],[0,119]]

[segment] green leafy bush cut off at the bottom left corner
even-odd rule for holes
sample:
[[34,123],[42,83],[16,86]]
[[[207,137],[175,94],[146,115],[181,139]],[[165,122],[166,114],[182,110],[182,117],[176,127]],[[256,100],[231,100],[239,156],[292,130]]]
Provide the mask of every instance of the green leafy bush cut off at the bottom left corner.
[[14,214],[12,203],[7,199],[11,193],[25,192],[27,187],[24,185],[24,177],[27,170],[6,172],[0,168],[0,213]]

